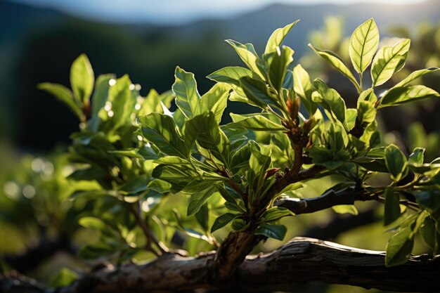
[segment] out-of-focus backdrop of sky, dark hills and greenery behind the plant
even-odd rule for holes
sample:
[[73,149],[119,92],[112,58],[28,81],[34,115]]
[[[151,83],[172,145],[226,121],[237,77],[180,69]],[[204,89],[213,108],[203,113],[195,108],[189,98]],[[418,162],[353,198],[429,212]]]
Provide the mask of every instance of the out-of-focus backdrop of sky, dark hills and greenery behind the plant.
[[[205,78],[208,74],[224,66],[241,65],[224,39],[253,43],[261,53],[273,30],[301,19],[285,39],[295,50],[294,65],[302,63],[312,79],[328,81],[347,105],[353,106],[356,93],[339,86],[347,84],[344,77],[313,55],[309,42],[349,60],[347,37],[361,22],[374,18],[382,45],[392,42],[388,37],[411,39],[406,69],[400,77],[440,65],[440,2],[384,2],[387,4],[349,0],[0,1],[0,256],[29,252],[30,247],[38,246],[35,241],[40,241],[30,235],[38,234],[40,226],[69,216],[63,214],[68,204],[64,207],[66,203],[59,200],[68,196],[68,183],[63,170],[56,169],[65,164],[66,157],[51,157],[51,153],[65,149],[78,123],[64,105],[37,90],[37,84],[56,82],[70,87],[70,65],[79,54],[89,56],[96,77],[128,73],[135,84],[141,84],[142,96],[152,88],[160,93],[171,89],[176,65],[194,72],[200,93],[205,93],[213,85]],[[395,83],[387,82],[384,88]],[[426,75],[420,83],[440,90],[439,74]],[[231,106],[230,112],[242,112],[239,104]],[[435,100],[387,108],[380,117],[384,142],[396,143],[408,153],[415,146],[425,147],[427,161],[438,157],[439,111],[440,103]],[[38,188],[44,190],[44,196],[35,200]],[[57,194],[58,201],[48,206],[52,194]],[[48,210],[53,211],[53,219],[48,218]],[[299,226],[295,233],[384,249],[387,235],[372,241],[372,235],[384,231],[381,223],[373,223],[380,215],[367,210],[370,214],[361,219],[370,230],[363,228],[362,237],[350,238],[346,231],[325,234],[331,218],[328,214],[320,219],[304,217],[304,227]],[[25,221],[37,225],[23,228]],[[342,227],[341,223],[332,225]],[[307,230],[308,226],[312,228]],[[4,235],[9,235],[10,241],[1,241]],[[60,239],[54,245],[70,246],[68,240]],[[39,261],[37,258],[30,268],[44,271]],[[20,263],[16,266],[20,268]],[[354,292],[345,287],[330,287],[329,292],[343,289]]]

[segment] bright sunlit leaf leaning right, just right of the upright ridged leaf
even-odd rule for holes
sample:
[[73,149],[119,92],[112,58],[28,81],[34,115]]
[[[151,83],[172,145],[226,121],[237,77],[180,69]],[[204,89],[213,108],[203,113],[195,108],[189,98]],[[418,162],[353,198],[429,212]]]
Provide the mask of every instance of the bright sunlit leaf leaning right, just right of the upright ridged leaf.
[[228,100],[231,86],[226,84],[215,84],[207,93],[205,93],[195,108],[194,116],[205,112],[213,112],[217,124],[221,122],[221,116],[226,108],[226,101]]

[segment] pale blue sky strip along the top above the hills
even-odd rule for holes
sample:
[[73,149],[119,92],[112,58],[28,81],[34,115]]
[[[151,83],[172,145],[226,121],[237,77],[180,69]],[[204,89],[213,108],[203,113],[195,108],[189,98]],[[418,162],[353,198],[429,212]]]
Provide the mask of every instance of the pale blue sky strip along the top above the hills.
[[14,0],[32,6],[56,8],[86,18],[115,22],[148,21],[179,24],[200,18],[223,18],[256,10],[273,3],[285,4],[387,4],[419,3],[423,0]]

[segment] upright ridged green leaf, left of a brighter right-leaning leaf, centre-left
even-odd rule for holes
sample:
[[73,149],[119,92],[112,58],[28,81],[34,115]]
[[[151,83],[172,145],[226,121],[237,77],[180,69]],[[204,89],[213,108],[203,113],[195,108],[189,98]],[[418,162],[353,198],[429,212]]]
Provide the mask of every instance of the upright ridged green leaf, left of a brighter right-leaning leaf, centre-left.
[[172,89],[176,95],[176,105],[182,110],[183,115],[185,115],[186,118],[193,117],[195,108],[197,108],[200,100],[194,74],[186,72],[181,69],[181,67],[177,66],[174,77],[176,80]]

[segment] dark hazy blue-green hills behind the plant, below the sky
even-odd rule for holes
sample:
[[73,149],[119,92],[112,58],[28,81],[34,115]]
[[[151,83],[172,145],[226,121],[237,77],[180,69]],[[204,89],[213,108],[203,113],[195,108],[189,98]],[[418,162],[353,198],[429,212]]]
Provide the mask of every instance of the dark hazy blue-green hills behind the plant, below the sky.
[[36,85],[50,81],[68,86],[70,64],[80,53],[89,56],[96,75],[128,72],[134,82],[142,84],[143,95],[150,87],[170,89],[176,65],[194,72],[203,92],[212,85],[203,78],[207,74],[226,65],[240,65],[224,39],[252,42],[261,52],[274,29],[301,19],[285,40],[298,60],[309,52],[309,31],[322,27],[327,15],[344,16],[347,34],[373,17],[383,35],[389,25],[439,22],[440,3],[276,4],[226,19],[159,26],[96,22],[0,0],[0,139],[39,150],[67,141],[77,122],[63,105],[37,91]]

